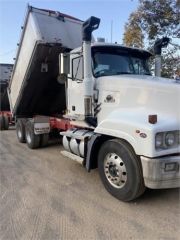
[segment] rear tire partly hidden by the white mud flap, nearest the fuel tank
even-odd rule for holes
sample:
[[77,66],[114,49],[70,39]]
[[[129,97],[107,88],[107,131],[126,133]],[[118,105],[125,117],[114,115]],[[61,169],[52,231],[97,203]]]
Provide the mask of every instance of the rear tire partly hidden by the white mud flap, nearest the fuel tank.
[[34,124],[30,121],[25,125],[25,138],[29,148],[35,149],[40,147],[40,135],[35,135]]

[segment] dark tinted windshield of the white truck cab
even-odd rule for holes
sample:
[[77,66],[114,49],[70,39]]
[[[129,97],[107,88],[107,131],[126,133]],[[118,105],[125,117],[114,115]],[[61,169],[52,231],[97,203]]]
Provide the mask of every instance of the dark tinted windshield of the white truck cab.
[[151,75],[147,59],[149,56],[134,49],[118,47],[96,47],[92,51],[95,77],[119,74]]

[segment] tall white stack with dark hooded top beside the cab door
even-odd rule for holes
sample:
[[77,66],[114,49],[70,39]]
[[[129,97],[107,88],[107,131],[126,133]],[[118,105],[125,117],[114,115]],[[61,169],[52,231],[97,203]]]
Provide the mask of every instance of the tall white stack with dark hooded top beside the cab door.
[[83,51],[84,51],[84,109],[85,121],[96,126],[93,117],[93,82],[92,82],[92,62],[91,62],[91,39],[92,32],[99,27],[100,19],[90,17],[83,23]]

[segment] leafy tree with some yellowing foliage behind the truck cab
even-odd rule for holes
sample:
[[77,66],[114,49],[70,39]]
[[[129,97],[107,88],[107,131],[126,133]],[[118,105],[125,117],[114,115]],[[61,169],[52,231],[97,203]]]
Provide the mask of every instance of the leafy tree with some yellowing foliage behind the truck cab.
[[[141,47],[138,42],[140,38],[145,39],[146,48],[152,50],[156,39],[164,36],[172,39],[163,54],[162,76],[172,77],[174,69],[179,68],[180,48],[177,44],[173,45],[173,41],[180,38],[179,18],[180,0],[139,0],[138,9],[130,15],[125,25],[124,43],[128,46],[133,46],[136,42],[137,46]],[[139,37],[133,34],[133,31],[139,34]]]

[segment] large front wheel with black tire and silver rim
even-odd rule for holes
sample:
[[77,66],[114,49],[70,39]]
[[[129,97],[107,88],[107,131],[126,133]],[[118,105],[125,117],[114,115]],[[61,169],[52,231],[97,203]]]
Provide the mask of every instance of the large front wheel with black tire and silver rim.
[[145,191],[140,159],[124,141],[113,139],[102,145],[98,170],[106,190],[119,200],[134,200]]

